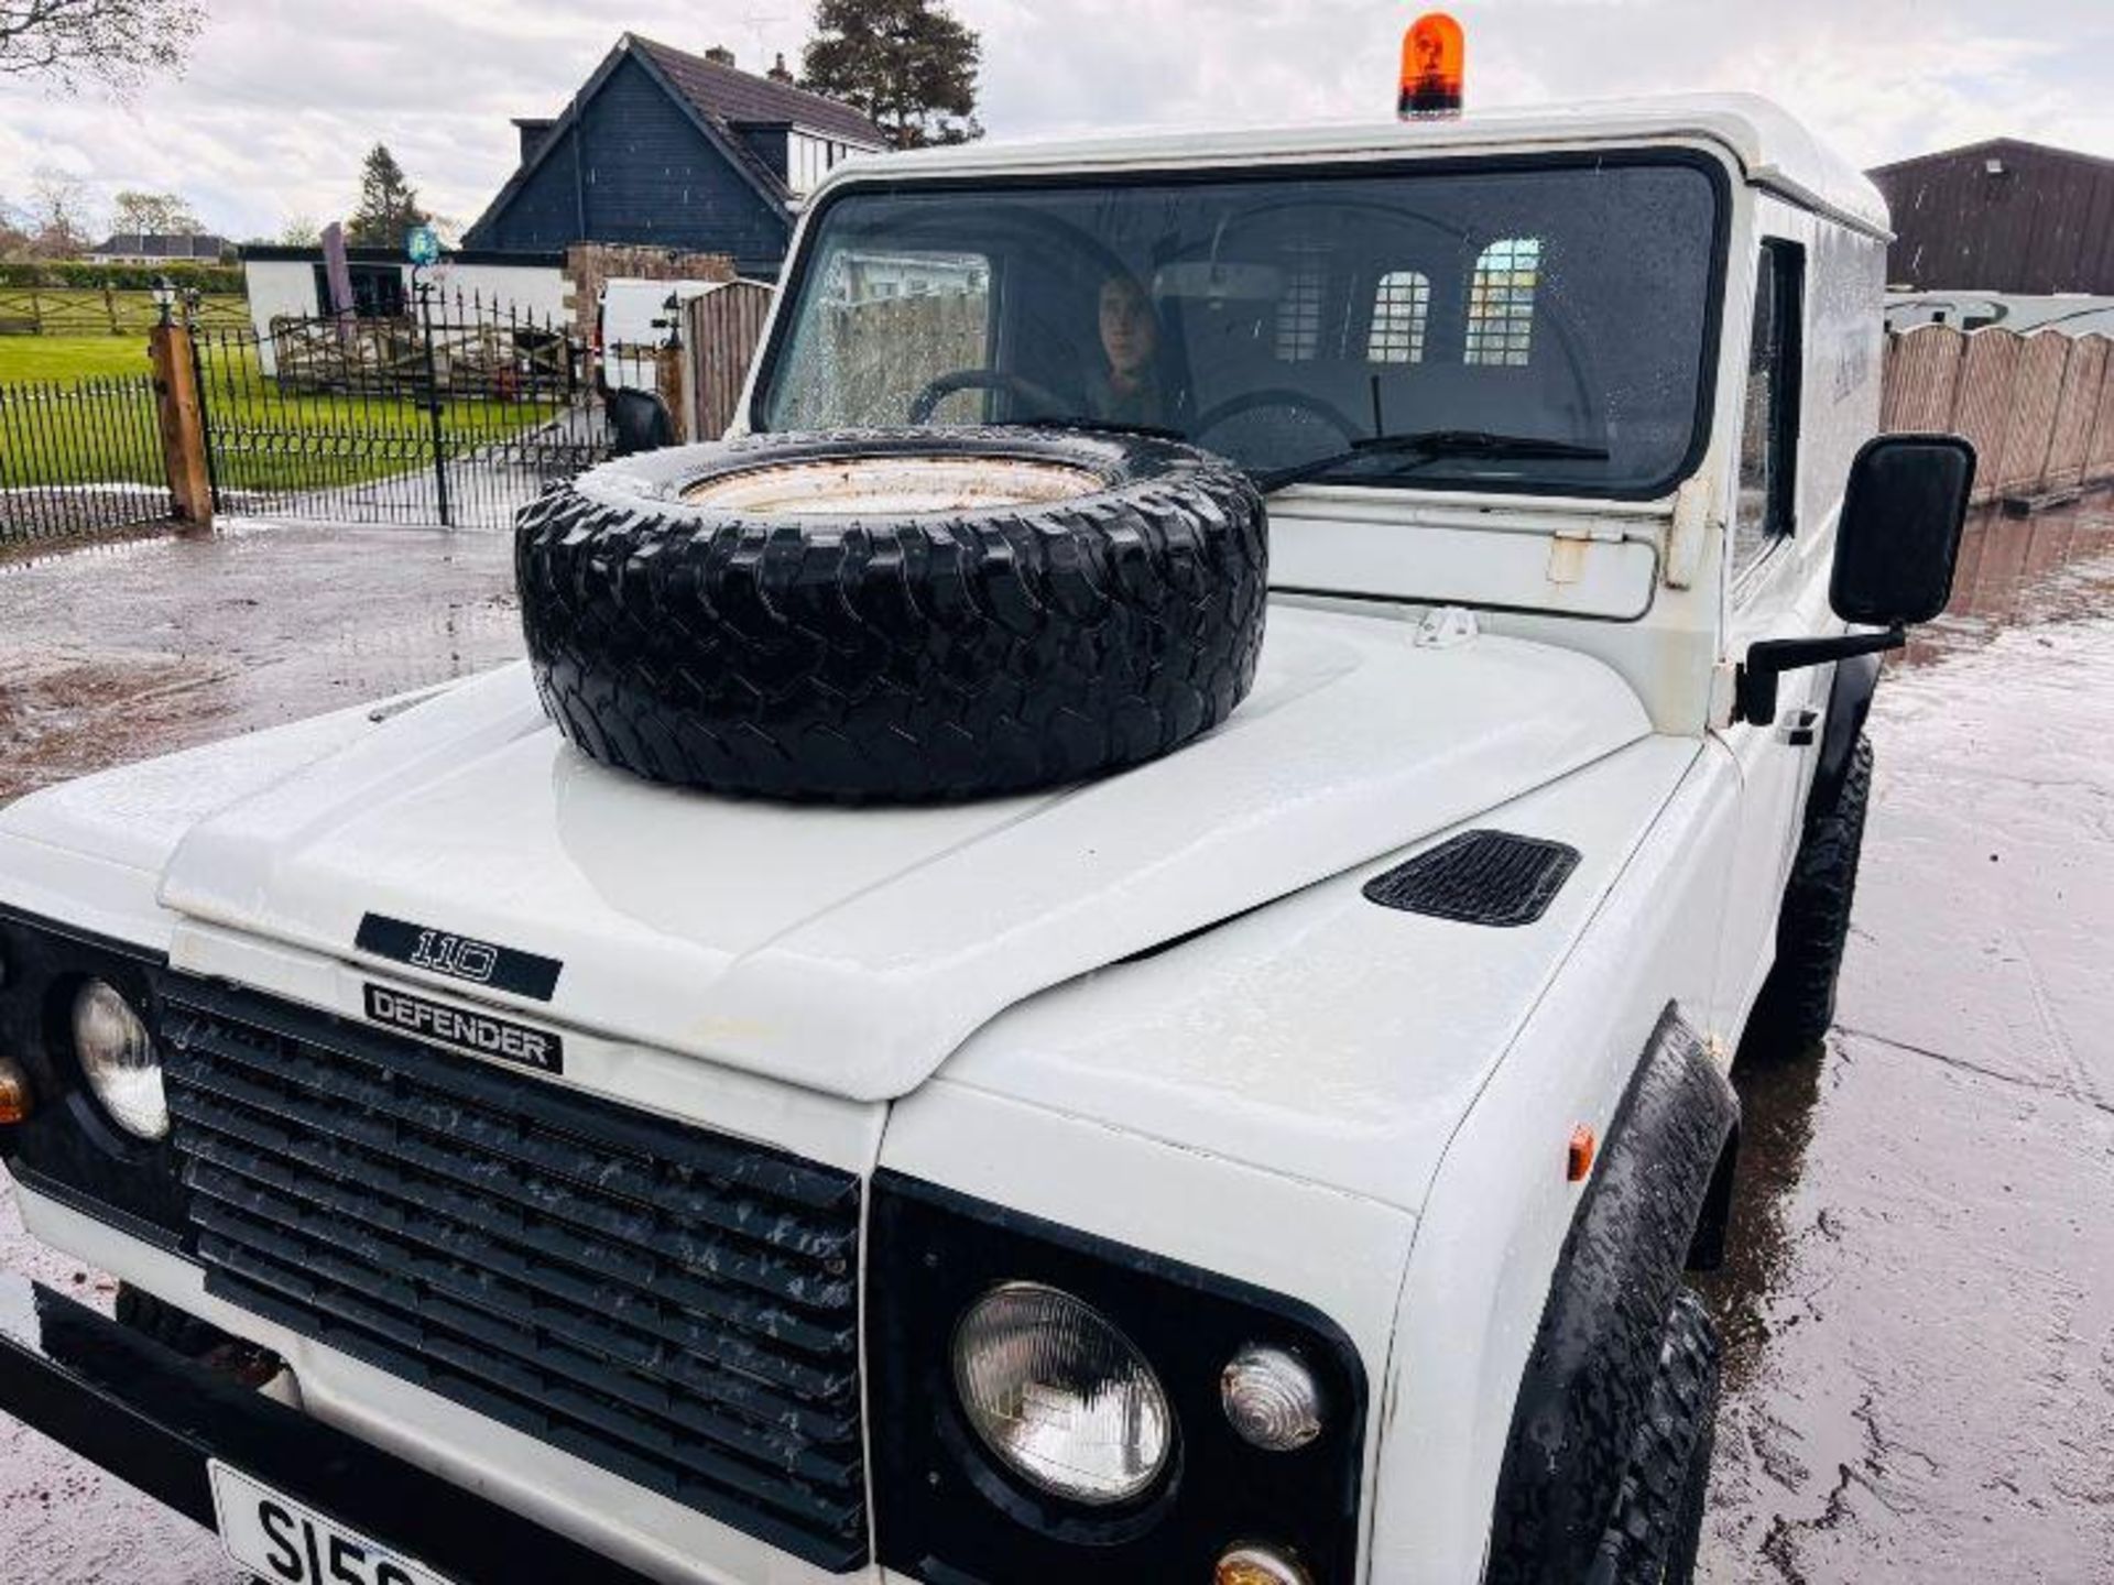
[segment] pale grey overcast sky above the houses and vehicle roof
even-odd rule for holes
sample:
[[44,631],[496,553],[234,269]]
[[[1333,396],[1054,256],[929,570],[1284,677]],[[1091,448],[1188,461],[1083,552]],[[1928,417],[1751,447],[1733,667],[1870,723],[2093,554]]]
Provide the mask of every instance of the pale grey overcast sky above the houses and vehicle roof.
[[[182,82],[131,106],[0,80],[0,201],[40,165],[97,201],[184,192],[233,237],[330,220],[361,152],[387,142],[427,203],[467,224],[514,165],[509,116],[554,114],[632,32],[742,66],[797,63],[799,0],[209,0]],[[983,120],[1021,137],[1148,123],[1387,116],[1418,6],[1372,0],[956,0],[983,32]],[[1681,89],[1784,101],[1877,163],[1996,133],[2114,154],[2103,61],[2114,2],[2046,0],[1482,0],[1469,101]]]

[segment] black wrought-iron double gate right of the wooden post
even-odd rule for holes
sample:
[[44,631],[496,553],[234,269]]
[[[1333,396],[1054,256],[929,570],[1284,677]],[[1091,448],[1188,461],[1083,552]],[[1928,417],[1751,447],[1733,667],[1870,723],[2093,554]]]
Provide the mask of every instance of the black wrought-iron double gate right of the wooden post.
[[425,290],[402,317],[197,330],[214,503],[321,522],[507,528],[609,454],[564,321]]

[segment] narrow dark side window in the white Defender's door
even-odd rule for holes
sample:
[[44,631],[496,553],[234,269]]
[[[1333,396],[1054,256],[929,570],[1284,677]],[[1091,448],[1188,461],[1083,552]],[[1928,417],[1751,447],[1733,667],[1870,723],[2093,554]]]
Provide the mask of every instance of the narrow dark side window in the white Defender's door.
[[1805,254],[1791,243],[1763,243],[1755,273],[1755,334],[1748,342],[1746,404],[1740,421],[1733,577],[1797,528],[1803,309]]

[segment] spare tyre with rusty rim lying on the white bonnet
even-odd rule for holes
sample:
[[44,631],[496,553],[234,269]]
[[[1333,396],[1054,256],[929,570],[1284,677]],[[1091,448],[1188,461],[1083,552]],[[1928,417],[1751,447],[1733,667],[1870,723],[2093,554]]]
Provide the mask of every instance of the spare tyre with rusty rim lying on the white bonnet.
[[1232,463],[1068,429],[767,433],[628,456],[516,528],[537,691],[594,759],[926,801],[1165,754],[1247,693],[1266,524]]

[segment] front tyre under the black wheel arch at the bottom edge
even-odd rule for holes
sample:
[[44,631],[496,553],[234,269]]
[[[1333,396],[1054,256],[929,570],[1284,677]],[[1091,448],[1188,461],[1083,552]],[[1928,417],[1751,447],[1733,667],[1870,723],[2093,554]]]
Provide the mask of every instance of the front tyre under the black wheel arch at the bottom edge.
[[1666,1314],[1659,1369],[1590,1585],[1689,1585],[1695,1579],[1719,1369],[1717,1327],[1702,1300],[1683,1287]]

